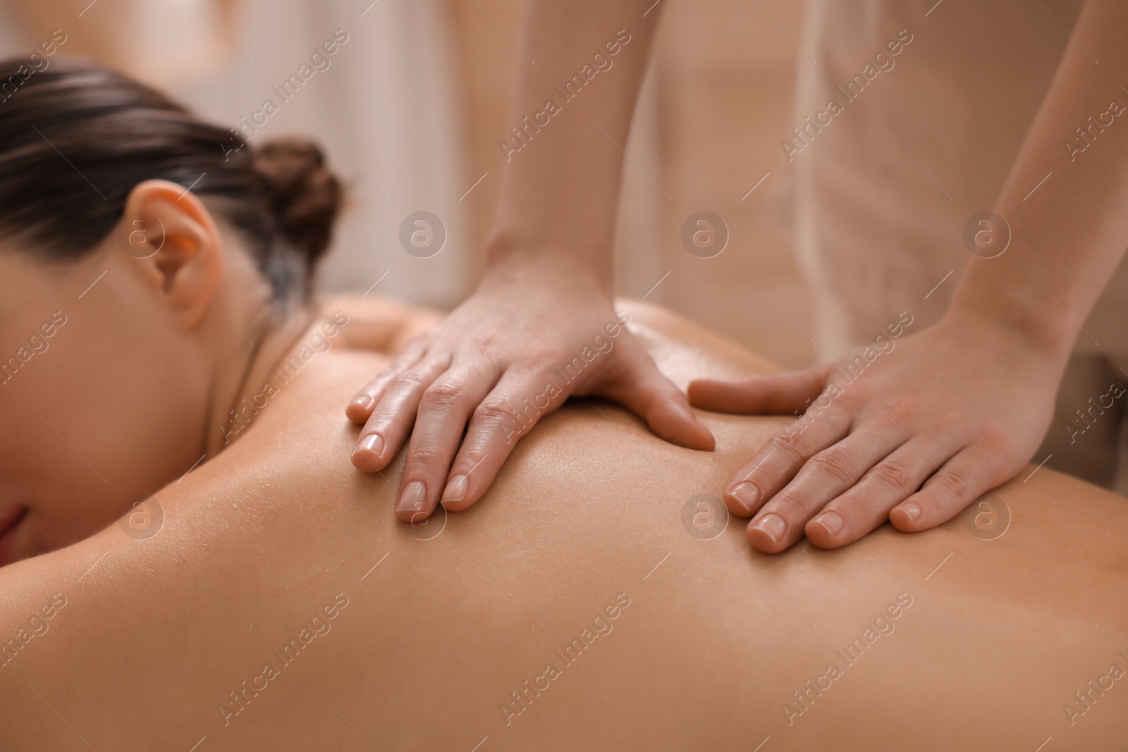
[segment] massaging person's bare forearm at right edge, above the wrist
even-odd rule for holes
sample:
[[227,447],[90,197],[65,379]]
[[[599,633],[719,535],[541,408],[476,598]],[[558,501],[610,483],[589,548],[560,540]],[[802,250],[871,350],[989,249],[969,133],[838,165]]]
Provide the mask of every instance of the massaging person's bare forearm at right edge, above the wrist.
[[950,310],[989,317],[1059,359],[1128,246],[1126,30],[1121,0],[1085,5],[996,203],[1013,230],[1011,247],[971,259]]

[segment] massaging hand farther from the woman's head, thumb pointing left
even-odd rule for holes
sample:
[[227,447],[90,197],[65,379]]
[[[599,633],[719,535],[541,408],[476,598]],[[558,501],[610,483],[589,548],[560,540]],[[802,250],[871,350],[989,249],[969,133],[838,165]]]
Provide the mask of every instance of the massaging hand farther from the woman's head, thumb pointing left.
[[760,551],[804,533],[837,548],[887,519],[905,532],[933,528],[1014,477],[1049,426],[1059,351],[989,319],[949,316],[829,366],[695,381],[689,401],[725,413],[805,410],[729,483],[724,502],[755,515],[748,537]]

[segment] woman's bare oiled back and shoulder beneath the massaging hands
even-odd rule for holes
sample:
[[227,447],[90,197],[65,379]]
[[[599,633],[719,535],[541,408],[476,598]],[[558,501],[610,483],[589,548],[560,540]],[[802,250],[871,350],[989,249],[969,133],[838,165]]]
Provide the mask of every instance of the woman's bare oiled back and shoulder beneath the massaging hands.
[[[769,368],[628,309],[679,384]],[[703,414],[706,453],[590,401],[543,419],[488,495],[424,541],[433,527],[391,511],[403,457],[384,477],[349,461],[342,406],[382,362],[311,361],[231,449],[157,494],[156,537],[114,525],[0,569],[0,639],[67,598],[0,667],[0,749],[748,751],[770,736],[764,752],[946,752],[1128,734],[1128,678],[1073,726],[1063,710],[1109,664],[1128,670],[1119,496],[1043,468],[997,490],[1012,520],[995,540],[957,517],[765,556],[738,519],[690,536],[682,507],[782,418]],[[338,593],[331,631],[284,665],[272,649]],[[565,665],[554,651],[620,593],[611,631]],[[895,631],[847,666],[836,651],[902,593]],[[831,662],[843,675],[788,725],[782,704],[799,709],[791,693]],[[220,704],[266,663],[280,674],[224,725]],[[500,706],[547,663],[559,676],[506,725]]]

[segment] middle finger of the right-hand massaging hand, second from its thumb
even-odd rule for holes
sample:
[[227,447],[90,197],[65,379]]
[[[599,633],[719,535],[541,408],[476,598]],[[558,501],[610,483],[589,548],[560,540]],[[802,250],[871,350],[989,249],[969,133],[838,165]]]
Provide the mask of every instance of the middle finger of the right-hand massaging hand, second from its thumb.
[[905,434],[895,426],[872,422],[812,455],[752,517],[748,525],[752,547],[775,554],[801,539],[811,517],[902,443]]

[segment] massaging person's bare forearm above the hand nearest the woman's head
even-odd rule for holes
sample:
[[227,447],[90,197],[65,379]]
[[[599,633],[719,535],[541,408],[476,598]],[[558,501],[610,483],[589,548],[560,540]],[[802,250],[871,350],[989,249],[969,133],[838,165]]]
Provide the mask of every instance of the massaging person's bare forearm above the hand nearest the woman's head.
[[[525,3],[518,44],[536,62],[519,55],[506,129],[515,126],[521,138],[506,130],[506,145],[499,144],[506,161],[487,242],[492,267],[549,264],[591,275],[609,292],[620,149],[661,11],[658,6],[646,12],[650,6],[642,0]],[[597,53],[601,57],[593,61]],[[583,72],[591,71],[598,72],[587,80]],[[583,86],[566,89],[573,77]],[[553,109],[548,101],[558,107],[555,114],[546,113]]]

